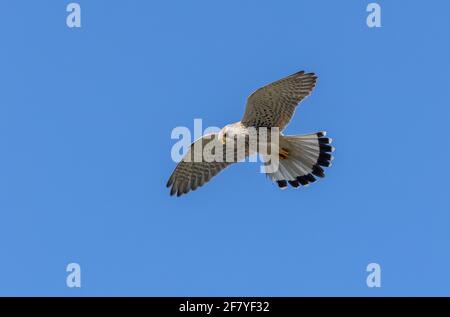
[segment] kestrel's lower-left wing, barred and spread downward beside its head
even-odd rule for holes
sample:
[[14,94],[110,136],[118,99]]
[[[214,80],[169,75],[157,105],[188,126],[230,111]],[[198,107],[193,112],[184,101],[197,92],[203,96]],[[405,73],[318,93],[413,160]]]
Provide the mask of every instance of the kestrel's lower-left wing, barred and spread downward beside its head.
[[[222,160],[211,156],[219,147],[222,149]],[[207,151],[204,151],[205,148]],[[212,154],[208,156],[205,152]],[[191,144],[188,153],[170,176],[167,182],[167,187],[171,188],[170,195],[181,196],[196,190],[231,164],[226,162],[226,146],[219,141],[217,134],[203,136]]]

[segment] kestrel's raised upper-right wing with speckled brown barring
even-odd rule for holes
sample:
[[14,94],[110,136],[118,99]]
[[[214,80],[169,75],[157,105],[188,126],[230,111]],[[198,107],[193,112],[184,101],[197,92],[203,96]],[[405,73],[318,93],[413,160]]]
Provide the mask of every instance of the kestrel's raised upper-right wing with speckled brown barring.
[[317,77],[304,71],[264,86],[247,99],[242,123],[254,127],[278,127],[283,130],[297,105],[314,89]]

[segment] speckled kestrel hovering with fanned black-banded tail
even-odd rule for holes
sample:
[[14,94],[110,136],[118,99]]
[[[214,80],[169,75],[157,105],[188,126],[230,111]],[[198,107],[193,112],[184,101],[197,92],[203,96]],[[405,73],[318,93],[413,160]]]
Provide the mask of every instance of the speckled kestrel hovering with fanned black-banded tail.
[[[292,119],[297,105],[310,95],[316,81],[314,73],[300,71],[252,93],[247,99],[241,121],[226,125],[218,133],[204,135],[191,144],[167,182],[170,194],[181,196],[196,190],[235,163],[233,160],[214,161],[206,158],[192,160],[196,145],[203,148],[213,142],[211,144],[215,146],[223,146],[222,153],[226,156],[227,140],[248,137],[251,129],[278,128],[278,131],[282,131]],[[331,166],[331,152],[334,151],[330,145],[332,140],[325,135],[324,131],[306,135],[283,135],[279,132],[276,152],[279,165],[277,170],[267,172],[267,176],[282,189],[287,188],[288,184],[294,188],[307,186],[314,183],[316,177],[324,177],[323,168]],[[233,149],[233,152],[232,156],[236,158],[238,150]],[[252,154],[246,149],[244,156]]]

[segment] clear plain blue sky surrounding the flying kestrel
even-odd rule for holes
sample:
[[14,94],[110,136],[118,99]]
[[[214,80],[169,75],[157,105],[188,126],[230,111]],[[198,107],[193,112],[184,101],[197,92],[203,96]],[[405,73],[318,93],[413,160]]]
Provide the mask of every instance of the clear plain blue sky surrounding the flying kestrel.
[[[0,2],[0,295],[450,295],[448,1],[377,1],[377,29],[363,0],[78,2],[81,29]],[[286,133],[328,131],[325,179],[169,196],[174,127],[299,70]]]

